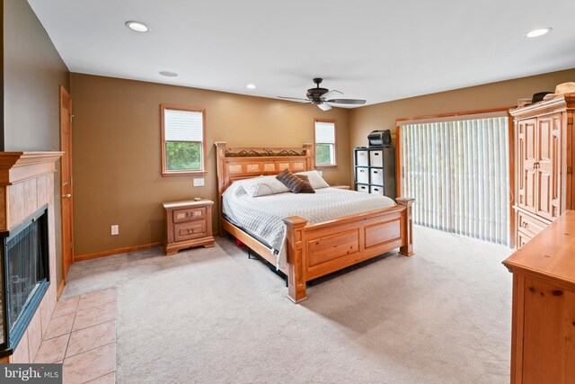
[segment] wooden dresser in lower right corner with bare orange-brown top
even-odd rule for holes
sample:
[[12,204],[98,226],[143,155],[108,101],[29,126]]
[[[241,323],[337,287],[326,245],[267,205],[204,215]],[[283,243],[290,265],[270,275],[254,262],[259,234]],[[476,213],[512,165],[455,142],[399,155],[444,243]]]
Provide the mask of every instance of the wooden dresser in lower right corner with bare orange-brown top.
[[575,383],[575,210],[503,262],[513,272],[512,383]]

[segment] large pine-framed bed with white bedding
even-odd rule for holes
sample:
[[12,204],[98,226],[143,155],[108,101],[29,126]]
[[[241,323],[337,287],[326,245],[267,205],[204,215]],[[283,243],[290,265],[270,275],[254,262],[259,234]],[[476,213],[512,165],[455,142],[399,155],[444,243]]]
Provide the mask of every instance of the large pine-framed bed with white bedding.
[[[226,142],[220,141],[216,148],[220,235],[225,236],[227,232],[240,239],[286,273],[288,298],[293,302],[307,298],[307,281],[394,248],[399,248],[401,255],[413,255],[411,204],[414,199],[397,198],[394,203],[383,197],[334,188],[316,190],[308,196],[280,193],[246,198],[242,195],[241,183],[234,185],[234,182],[279,174],[286,168],[294,173],[314,170],[313,145],[227,147]],[[298,204],[304,209],[296,210]],[[270,218],[263,217],[273,206],[281,209],[273,210]],[[252,218],[245,213],[250,210],[254,212]],[[282,216],[294,212],[301,213]],[[254,216],[262,220],[263,231],[250,225]]]

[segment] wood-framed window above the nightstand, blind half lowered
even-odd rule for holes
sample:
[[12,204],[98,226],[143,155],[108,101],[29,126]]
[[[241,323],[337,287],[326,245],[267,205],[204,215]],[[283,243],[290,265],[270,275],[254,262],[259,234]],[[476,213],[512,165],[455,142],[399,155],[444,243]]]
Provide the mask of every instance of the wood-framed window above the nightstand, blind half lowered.
[[205,173],[205,111],[162,105],[162,174]]

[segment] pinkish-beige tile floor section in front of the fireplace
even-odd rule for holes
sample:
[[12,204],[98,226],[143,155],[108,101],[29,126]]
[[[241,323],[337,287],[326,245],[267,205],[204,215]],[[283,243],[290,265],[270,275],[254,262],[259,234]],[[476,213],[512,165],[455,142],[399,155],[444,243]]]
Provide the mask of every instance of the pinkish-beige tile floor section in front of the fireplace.
[[58,301],[34,362],[63,363],[65,384],[116,381],[116,289]]

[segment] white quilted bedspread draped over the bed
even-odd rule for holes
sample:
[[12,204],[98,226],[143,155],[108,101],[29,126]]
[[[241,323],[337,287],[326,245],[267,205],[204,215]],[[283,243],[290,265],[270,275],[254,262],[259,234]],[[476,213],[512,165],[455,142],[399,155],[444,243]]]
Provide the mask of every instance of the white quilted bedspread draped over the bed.
[[299,216],[310,223],[317,223],[394,205],[395,202],[385,196],[337,188],[322,188],[315,193],[286,192],[251,197],[243,191],[241,181],[230,185],[223,195],[226,217],[268,243],[270,252],[278,256],[276,266],[280,268],[287,264],[283,219]]

